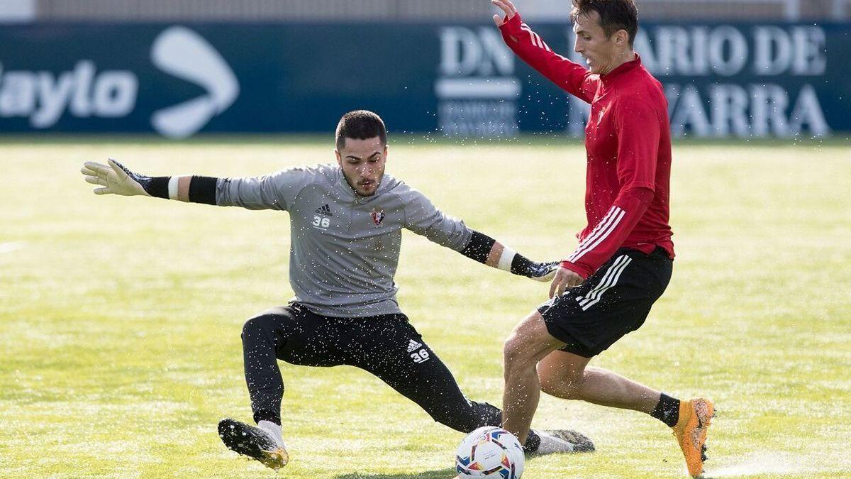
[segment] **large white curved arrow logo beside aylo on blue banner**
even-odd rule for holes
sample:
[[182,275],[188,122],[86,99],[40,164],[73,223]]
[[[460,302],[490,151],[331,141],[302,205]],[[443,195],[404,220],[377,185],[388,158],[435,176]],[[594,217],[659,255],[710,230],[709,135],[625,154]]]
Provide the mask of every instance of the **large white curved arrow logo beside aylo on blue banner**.
[[159,34],[151,61],[163,72],[207,90],[206,95],[153,113],[151,124],[164,136],[191,136],[237,100],[239,82],[231,67],[207,40],[184,26]]

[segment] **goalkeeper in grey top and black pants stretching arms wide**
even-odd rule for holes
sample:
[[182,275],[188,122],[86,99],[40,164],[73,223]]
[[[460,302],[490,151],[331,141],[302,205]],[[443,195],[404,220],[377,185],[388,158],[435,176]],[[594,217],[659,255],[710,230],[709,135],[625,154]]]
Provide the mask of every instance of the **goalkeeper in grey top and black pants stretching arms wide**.
[[[302,366],[350,365],[381,378],[436,421],[469,432],[500,425],[500,410],[469,401],[452,373],[403,315],[393,282],[402,228],[494,268],[551,280],[556,265],[535,263],[385,175],[387,137],[378,115],[346,113],[336,131],[336,164],[251,178],[143,176],[110,159],[86,163],[94,193],[155,196],[290,216],[289,281],[295,297],[243,326],[245,378],[258,427],[222,419],[226,446],[279,469],[288,462],[281,432],[283,381],[277,359]],[[592,450],[573,431],[529,435],[528,453]]]

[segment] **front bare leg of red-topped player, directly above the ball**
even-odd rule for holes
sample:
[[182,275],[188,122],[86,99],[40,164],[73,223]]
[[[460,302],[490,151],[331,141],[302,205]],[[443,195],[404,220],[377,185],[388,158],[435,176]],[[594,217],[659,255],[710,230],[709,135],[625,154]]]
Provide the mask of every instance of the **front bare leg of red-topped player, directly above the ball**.
[[540,399],[540,382],[535,366],[564,343],[546,330],[544,318],[535,311],[521,321],[505,340],[505,392],[502,398],[502,427],[526,441]]

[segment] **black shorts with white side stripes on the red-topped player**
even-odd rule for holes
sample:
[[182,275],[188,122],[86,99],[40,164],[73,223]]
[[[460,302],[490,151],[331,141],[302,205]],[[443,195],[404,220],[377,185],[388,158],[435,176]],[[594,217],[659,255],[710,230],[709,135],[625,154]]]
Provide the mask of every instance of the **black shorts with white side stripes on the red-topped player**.
[[650,307],[671,280],[673,260],[621,248],[584,283],[543,303],[547,331],[567,343],[561,350],[590,358],[644,324]]

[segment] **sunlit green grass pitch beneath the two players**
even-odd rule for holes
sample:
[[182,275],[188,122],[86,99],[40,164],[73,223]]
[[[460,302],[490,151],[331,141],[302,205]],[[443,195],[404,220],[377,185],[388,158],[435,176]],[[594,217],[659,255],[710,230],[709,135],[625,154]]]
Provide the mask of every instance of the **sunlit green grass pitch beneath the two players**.
[[[332,159],[330,141],[0,145],[0,476],[272,477],[219,418],[250,418],[239,333],[290,297],[288,216],[96,197],[85,160],[154,175],[244,176]],[[591,364],[719,416],[707,476],[851,475],[851,148],[675,147],[674,277],[647,323]],[[391,147],[388,172],[529,257],[583,226],[580,145]],[[472,398],[500,404],[501,343],[547,286],[406,232],[404,311]],[[292,462],[278,477],[448,478],[461,436],[376,378],[282,364]],[[534,425],[597,452],[526,479],[677,477],[665,426],[543,397]]]

